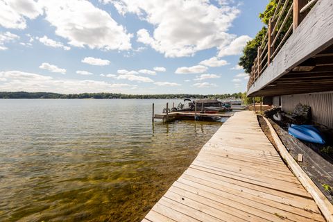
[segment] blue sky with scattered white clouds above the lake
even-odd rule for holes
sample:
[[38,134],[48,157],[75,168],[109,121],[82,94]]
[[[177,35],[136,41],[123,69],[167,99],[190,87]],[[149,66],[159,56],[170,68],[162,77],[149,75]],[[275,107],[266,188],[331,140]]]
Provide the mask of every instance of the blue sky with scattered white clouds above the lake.
[[0,91],[245,92],[268,0],[0,0]]

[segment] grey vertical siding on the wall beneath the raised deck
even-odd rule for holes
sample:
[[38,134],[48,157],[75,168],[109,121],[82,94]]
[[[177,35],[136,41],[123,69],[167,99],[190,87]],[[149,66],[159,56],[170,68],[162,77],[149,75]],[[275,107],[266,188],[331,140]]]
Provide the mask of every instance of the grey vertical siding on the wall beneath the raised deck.
[[333,128],[333,92],[282,96],[284,112],[293,112],[298,103],[311,106],[312,121]]

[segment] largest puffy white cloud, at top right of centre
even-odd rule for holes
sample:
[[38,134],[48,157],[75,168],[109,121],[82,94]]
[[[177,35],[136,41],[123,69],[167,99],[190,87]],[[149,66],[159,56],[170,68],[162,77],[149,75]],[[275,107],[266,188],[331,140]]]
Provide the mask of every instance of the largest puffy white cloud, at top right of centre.
[[[133,13],[154,26],[153,33],[137,31],[137,41],[166,57],[193,56],[197,51],[230,42],[226,33],[239,10],[207,0],[103,0],[125,15]],[[181,25],[180,25],[181,24]]]

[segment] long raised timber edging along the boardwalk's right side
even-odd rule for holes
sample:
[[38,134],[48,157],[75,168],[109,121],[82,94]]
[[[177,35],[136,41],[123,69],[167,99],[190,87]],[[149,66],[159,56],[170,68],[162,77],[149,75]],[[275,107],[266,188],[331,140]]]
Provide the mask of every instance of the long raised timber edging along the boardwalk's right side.
[[314,201],[318,205],[319,210],[321,210],[322,214],[325,216],[325,219],[328,222],[333,222],[333,205],[329,200],[323,195],[320,189],[312,182],[311,178],[307,176],[307,173],[303,171],[303,169],[298,165],[298,163],[291,157],[287,148],[282,144],[280,137],[275,132],[271,123],[264,117],[264,120],[267,123],[269,130],[271,131],[271,135],[274,139],[275,144],[277,145],[278,151],[281,157],[287,162],[291,171],[295,174],[295,176],[300,180],[300,183],[305,187],[305,189],[311,194],[314,198]]

